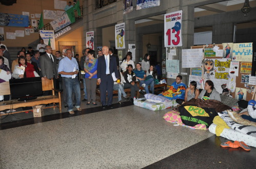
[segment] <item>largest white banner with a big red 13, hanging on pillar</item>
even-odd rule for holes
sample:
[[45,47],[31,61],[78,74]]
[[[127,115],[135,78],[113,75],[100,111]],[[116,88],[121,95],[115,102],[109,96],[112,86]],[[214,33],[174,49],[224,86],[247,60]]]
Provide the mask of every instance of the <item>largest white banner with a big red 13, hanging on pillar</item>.
[[164,15],[164,47],[182,46],[181,21],[182,11]]

